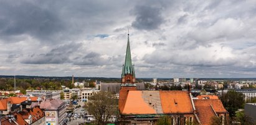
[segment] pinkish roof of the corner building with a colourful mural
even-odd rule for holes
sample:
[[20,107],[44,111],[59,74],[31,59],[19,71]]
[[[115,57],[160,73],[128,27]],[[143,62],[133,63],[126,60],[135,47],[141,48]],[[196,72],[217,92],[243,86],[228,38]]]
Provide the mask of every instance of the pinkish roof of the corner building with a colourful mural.
[[45,110],[57,110],[64,101],[60,99],[47,99],[40,103],[40,108]]

